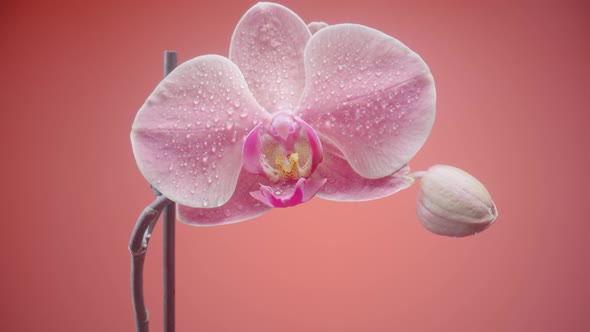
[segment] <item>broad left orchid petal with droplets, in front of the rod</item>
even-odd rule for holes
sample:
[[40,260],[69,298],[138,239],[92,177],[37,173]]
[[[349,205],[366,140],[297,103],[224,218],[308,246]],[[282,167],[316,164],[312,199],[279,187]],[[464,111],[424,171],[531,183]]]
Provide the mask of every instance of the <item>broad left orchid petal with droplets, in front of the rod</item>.
[[131,143],[144,177],[190,207],[229,200],[242,168],[243,138],[264,112],[238,67],[217,55],[187,61],[137,113]]

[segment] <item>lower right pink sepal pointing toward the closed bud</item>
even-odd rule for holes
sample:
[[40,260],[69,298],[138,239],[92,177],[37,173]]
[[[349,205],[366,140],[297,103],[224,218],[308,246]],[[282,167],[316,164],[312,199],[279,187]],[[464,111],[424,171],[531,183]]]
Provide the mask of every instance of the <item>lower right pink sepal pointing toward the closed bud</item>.
[[321,177],[328,179],[317,196],[332,201],[368,201],[383,198],[406,189],[414,183],[414,179],[409,176],[408,165],[379,179],[364,178],[350,167],[334,145],[326,143],[324,143],[324,161],[317,171]]

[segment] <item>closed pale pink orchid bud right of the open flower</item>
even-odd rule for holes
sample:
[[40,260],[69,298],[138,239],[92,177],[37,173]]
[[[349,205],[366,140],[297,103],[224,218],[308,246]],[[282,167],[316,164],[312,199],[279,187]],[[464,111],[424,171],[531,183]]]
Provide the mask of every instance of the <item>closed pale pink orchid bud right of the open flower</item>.
[[486,188],[458,168],[435,165],[422,176],[418,218],[429,231],[462,237],[488,228],[498,210]]

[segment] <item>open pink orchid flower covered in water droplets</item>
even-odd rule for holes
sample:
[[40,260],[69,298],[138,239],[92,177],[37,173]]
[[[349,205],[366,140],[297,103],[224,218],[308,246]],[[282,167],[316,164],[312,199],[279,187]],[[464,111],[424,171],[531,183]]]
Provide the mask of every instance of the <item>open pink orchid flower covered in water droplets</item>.
[[316,195],[365,201],[409,187],[435,99],[428,66],[398,40],[356,24],[308,27],[258,3],[229,58],[194,58],[156,87],[131,141],[180,221],[219,225]]

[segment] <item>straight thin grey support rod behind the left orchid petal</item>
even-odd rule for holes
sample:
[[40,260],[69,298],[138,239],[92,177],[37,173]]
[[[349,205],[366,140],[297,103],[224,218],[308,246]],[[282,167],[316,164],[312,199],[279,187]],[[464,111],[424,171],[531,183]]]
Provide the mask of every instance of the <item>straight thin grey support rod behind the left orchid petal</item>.
[[[178,57],[175,51],[164,52],[164,77],[176,68]],[[164,332],[174,332],[176,319],[176,287],[175,287],[175,221],[176,204],[168,204],[164,208],[163,226],[163,289],[164,289]]]

